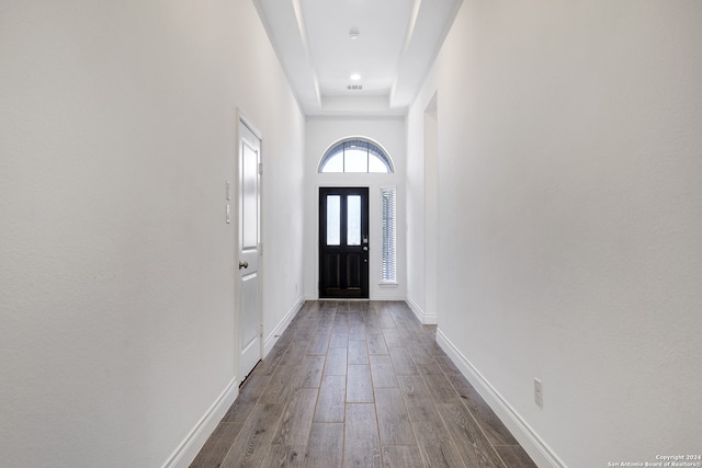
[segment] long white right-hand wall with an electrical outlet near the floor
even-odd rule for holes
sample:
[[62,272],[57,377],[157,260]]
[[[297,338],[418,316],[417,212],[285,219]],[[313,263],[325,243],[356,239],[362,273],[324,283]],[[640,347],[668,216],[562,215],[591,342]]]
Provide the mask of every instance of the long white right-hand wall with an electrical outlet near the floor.
[[700,24],[465,0],[410,111],[438,92],[440,340],[543,466],[700,452]]

